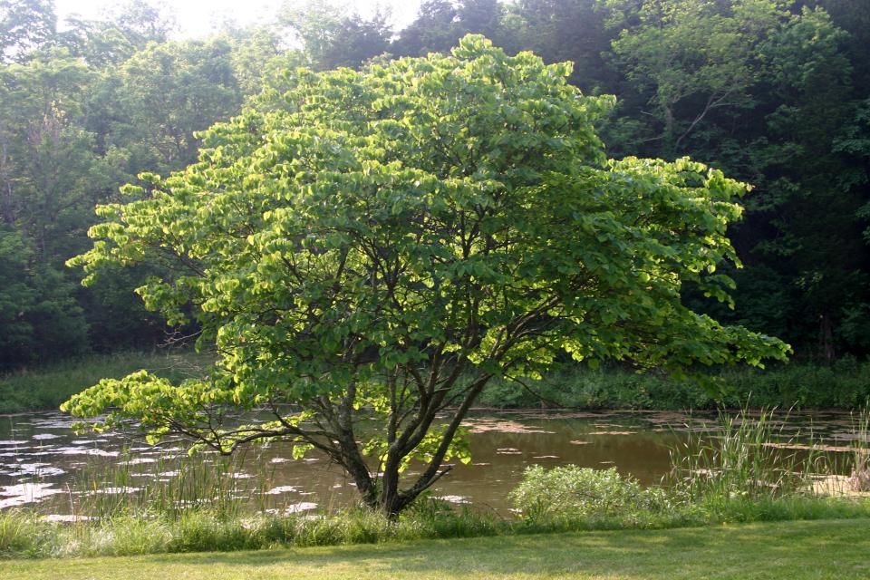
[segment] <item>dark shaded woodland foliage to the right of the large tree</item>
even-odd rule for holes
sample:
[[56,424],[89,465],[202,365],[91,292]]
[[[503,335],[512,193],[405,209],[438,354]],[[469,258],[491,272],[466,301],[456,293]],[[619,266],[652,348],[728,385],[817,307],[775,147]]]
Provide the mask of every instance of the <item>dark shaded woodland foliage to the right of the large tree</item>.
[[735,233],[749,262],[735,275],[736,310],[697,307],[778,333],[805,358],[865,353],[867,181],[853,67],[866,59],[846,49],[857,14],[836,2],[610,5],[622,29],[614,64],[630,81],[610,131],[628,151],[703,151],[755,186]]

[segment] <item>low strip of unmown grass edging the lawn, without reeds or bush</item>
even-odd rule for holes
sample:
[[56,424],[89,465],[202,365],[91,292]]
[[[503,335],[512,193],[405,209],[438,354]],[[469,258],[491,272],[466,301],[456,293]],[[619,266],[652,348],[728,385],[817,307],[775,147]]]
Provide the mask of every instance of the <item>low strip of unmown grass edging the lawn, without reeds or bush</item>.
[[[420,539],[594,530],[717,527],[722,524],[870,518],[870,500],[819,497],[730,498],[680,503],[619,514],[503,517],[488,510],[454,510],[440,502],[391,521],[364,509],[337,513],[252,514],[227,517],[192,509],[177,517],[118,512],[99,520],[45,521],[33,511],[0,513],[0,558],[134,556],[232,552],[275,547],[394,544]],[[5,577],[0,575],[0,577]]]

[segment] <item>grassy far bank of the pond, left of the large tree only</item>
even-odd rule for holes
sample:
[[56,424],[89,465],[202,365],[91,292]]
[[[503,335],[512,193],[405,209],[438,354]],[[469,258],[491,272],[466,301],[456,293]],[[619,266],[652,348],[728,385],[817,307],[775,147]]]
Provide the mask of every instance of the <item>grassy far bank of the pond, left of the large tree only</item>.
[[56,410],[63,401],[101,379],[140,369],[181,380],[202,372],[208,357],[187,351],[115,353],[0,375],[0,413]]

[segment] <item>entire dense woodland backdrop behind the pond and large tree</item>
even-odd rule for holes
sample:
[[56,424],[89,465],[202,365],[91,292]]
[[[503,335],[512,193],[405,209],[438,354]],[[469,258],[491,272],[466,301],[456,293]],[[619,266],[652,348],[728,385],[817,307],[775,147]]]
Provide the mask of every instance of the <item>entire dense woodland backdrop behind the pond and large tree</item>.
[[870,353],[870,0],[426,0],[402,30],[342,6],[178,40],[141,0],[63,23],[51,0],[0,1],[0,370],[195,333],[145,310],[147,268],[79,284],[65,262],[91,246],[94,206],[195,162],[197,131],[296,67],[449,51],[467,33],[614,94],[612,156],[691,156],[754,186],[732,232],[736,308],[686,300],[800,359]]

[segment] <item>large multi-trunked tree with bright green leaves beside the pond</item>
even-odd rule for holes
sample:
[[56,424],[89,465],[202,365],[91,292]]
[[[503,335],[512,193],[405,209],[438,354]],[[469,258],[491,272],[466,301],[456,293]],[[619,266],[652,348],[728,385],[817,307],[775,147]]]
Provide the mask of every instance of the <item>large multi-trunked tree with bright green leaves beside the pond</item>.
[[[728,300],[712,272],[736,260],[746,187],[690,160],[606,160],[593,122],[611,99],[570,72],[470,35],[449,56],[299,70],[206,131],[197,164],[99,208],[71,264],[87,284],[171,259],[183,272],[139,293],[170,324],[192,304],[220,361],[206,380],[104,380],[63,409],[222,453],[292,440],[395,515],[467,458],[460,425],[493,377],[565,352],[674,372],[784,358],[681,302],[686,282]],[[272,420],[238,422],[254,410]]]

